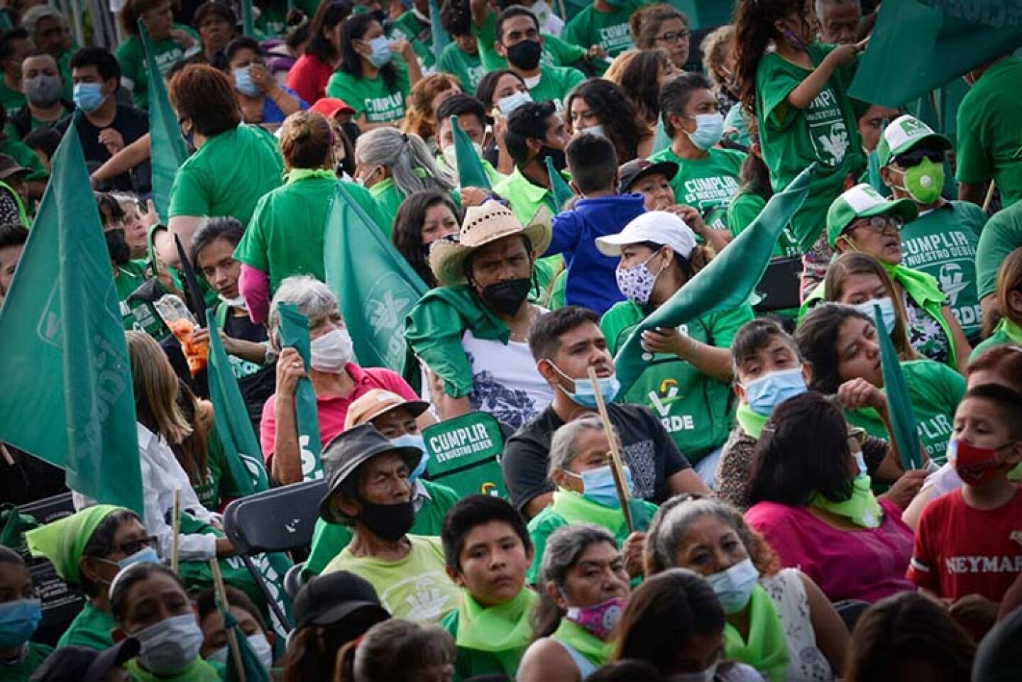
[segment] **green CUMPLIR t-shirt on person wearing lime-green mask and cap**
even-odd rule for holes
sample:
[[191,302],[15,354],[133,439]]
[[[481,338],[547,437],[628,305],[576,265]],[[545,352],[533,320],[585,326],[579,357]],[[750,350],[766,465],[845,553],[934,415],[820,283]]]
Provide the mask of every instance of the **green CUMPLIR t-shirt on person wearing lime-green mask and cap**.
[[983,330],[976,295],[976,246],[986,214],[975,203],[948,201],[901,229],[901,265],[932,275],[973,343]]

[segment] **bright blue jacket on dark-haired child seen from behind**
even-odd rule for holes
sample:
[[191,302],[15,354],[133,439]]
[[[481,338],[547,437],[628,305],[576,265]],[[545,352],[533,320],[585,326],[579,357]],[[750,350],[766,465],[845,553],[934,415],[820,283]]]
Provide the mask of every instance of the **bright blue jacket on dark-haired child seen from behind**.
[[624,300],[614,276],[620,259],[601,254],[596,238],[617,234],[644,213],[642,194],[619,194],[578,199],[573,210],[554,217],[554,238],[545,256],[564,256],[566,305],[582,306],[603,315]]

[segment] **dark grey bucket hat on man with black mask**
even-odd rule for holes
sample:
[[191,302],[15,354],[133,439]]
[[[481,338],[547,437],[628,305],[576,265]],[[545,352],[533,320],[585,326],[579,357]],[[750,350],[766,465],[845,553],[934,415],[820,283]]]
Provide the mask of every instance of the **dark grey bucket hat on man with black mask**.
[[372,424],[359,424],[341,431],[323,449],[323,476],[327,483],[327,493],[320,500],[320,518],[328,524],[343,524],[349,520],[331,502],[330,498],[355,470],[376,455],[392,452],[400,455],[409,470],[414,469],[422,459],[422,451],[415,447],[396,446]]

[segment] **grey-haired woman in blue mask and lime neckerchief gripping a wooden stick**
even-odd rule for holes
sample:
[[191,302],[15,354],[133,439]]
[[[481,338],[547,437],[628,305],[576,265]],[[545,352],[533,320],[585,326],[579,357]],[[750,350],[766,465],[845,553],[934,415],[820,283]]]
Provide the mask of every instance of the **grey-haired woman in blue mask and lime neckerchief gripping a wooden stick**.
[[[614,434],[614,439],[617,440],[617,434]],[[539,577],[550,535],[563,526],[583,522],[607,529],[621,547],[629,576],[641,576],[646,537],[643,531],[649,526],[657,507],[645,500],[630,500],[628,507],[635,532],[629,532],[610,469],[610,444],[600,417],[587,414],[554,431],[548,471],[557,490],[553,504],[528,522],[528,534],[535,548],[532,565],[526,576],[528,582],[535,583]],[[626,465],[624,479],[631,489],[632,472]]]

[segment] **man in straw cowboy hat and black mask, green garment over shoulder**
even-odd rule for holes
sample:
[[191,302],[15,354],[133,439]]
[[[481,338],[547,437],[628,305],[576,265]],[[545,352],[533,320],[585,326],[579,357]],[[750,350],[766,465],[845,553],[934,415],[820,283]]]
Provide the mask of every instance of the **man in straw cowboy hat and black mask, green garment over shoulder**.
[[550,404],[527,343],[546,312],[528,294],[550,240],[549,212],[523,226],[491,200],[465,212],[458,235],[432,243],[429,266],[440,286],[412,309],[405,337],[429,370],[442,419],[482,410],[517,428]]

